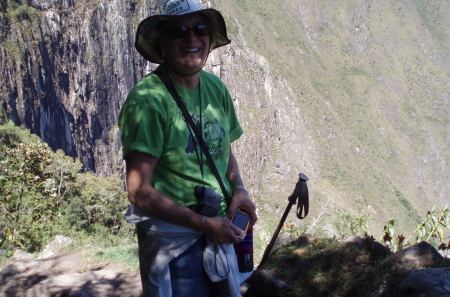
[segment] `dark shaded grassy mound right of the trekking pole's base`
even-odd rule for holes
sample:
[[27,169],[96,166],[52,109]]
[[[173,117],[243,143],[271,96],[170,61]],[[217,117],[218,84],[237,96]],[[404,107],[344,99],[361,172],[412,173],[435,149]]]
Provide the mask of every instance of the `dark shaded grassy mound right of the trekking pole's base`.
[[264,268],[290,286],[286,297],[397,296],[397,285],[411,267],[386,251],[370,241],[360,248],[336,239],[302,236],[273,253]]

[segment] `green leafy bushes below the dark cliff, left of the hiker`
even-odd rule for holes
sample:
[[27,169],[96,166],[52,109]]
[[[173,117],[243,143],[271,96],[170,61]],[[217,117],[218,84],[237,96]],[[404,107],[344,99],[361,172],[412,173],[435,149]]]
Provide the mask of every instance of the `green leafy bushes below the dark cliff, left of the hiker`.
[[0,146],[0,248],[36,252],[56,234],[132,240],[120,179],[80,173],[79,162],[12,123],[0,126]]

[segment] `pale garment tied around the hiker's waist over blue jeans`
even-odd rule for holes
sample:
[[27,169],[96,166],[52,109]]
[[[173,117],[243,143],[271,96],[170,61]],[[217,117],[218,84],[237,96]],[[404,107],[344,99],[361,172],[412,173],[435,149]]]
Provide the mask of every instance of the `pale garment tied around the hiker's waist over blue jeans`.
[[[132,212],[136,212],[136,206]],[[150,261],[150,273],[148,275],[149,286],[144,291],[149,290],[149,296],[170,297],[172,296],[172,283],[170,279],[169,262],[181,255],[202,234],[197,230],[174,225],[166,221],[146,215],[139,210],[140,218],[133,217],[130,213],[131,207],[125,216],[130,223],[138,223],[139,227],[148,230],[145,250],[145,261]],[[142,212],[142,213],[140,213]],[[133,218],[132,218],[133,217]],[[141,256],[141,255],[140,255]],[[253,271],[240,273],[237,265],[236,254],[231,243],[214,244],[208,238],[203,253],[203,267],[212,282],[226,280],[226,287],[230,297],[242,296],[240,284],[246,280]]]

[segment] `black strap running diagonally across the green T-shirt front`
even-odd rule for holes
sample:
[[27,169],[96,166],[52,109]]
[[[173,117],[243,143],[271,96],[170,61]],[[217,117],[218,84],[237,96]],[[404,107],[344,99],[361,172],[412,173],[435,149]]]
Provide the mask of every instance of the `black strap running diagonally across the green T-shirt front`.
[[[189,115],[189,112],[184,105],[183,101],[180,98],[180,95],[178,94],[177,90],[175,89],[175,86],[173,85],[172,81],[164,75],[161,71],[158,69],[153,71],[154,74],[158,75],[159,79],[164,83],[169,93],[172,95],[173,99],[177,103],[178,107],[180,108],[181,112],[183,113],[184,119],[187,122],[187,124],[190,126],[190,129],[194,131],[195,137],[197,138],[198,142],[200,143],[200,147],[202,148],[203,154],[206,157],[206,160],[208,160],[209,167],[214,174],[214,176],[217,179],[217,182],[220,185],[220,189],[222,190],[223,196],[225,197],[225,201],[227,205],[230,205],[231,199],[228,195],[228,192],[223,184],[222,178],[220,177],[219,171],[217,171],[216,164],[214,164],[214,161],[211,157],[211,154],[209,153],[209,148],[206,145],[206,143],[203,141],[203,137],[200,134],[200,131],[198,131],[197,127],[194,124],[194,121],[192,120],[192,117]],[[195,144],[195,142],[194,142]]]

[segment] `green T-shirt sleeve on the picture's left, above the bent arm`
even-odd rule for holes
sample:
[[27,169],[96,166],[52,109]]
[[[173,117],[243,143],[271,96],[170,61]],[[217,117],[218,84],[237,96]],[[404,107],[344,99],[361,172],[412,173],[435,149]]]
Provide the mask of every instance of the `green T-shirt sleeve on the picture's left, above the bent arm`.
[[164,145],[163,127],[163,117],[150,106],[124,106],[119,116],[123,158],[134,151],[161,157]]

